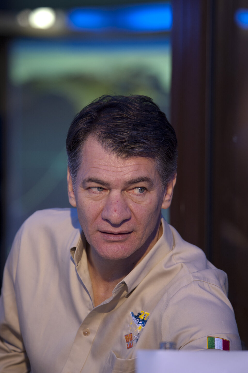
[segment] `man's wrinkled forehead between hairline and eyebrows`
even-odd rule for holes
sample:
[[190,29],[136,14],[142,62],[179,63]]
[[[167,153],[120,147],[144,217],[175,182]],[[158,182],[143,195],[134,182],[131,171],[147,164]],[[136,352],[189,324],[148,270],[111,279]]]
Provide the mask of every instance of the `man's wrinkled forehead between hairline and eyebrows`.
[[134,176],[147,176],[155,181],[158,178],[153,159],[145,157],[123,159],[103,148],[94,137],[89,137],[85,141],[78,172],[81,178],[98,176],[99,174],[110,179],[123,178],[126,180]]

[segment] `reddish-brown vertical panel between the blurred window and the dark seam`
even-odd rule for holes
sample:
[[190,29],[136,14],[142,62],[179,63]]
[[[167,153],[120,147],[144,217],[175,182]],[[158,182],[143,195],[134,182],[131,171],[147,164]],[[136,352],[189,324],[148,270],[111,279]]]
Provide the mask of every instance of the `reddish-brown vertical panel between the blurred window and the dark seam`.
[[[178,137],[178,183],[171,223],[183,239],[207,251],[210,1],[173,0],[172,125]],[[208,76],[206,79],[206,69]]]

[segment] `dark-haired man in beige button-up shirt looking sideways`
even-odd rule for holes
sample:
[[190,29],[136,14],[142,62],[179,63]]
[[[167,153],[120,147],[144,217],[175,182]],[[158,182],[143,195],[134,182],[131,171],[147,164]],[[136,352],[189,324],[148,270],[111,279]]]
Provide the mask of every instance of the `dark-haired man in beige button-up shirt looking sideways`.
[[177,141],[144,96],[103,96],[73,120],[68,195],[7,259],[0,372],[135,372],[136,350],[239,350],[227,278],[161,219]]

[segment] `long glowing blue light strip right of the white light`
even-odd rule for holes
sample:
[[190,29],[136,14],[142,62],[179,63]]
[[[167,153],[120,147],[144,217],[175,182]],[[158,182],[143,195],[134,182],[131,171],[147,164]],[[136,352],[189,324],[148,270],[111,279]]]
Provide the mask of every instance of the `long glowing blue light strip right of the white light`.
[[115,9],[84,7],[70,10],[67,20],[69,28],[82,31],[170,31],[172,7],[169,3],[146,3]]

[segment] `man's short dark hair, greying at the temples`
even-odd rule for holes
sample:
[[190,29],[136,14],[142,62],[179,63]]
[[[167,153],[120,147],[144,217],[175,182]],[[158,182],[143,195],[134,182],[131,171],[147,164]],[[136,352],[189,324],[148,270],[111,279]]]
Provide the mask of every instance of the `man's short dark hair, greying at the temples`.
[[163,188],[176,173],[175,131],[150,97],[104,95],[75,116],[66,139],[73,187],[89,135],[95,135],[104,148],[119,157],[153,159]]

